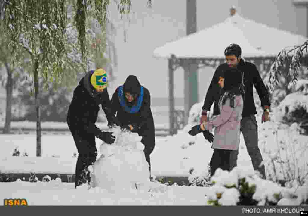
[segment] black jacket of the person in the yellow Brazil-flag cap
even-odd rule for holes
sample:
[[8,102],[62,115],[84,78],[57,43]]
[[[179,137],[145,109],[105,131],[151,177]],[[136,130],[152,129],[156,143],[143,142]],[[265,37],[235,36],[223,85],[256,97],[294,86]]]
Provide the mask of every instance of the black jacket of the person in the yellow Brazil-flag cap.
[[102,93],[95,91],[90,83],[92,73],[88,72],[79,82],[74,90],[74,96],[67,113],[67,124],[72,133],[79,135],[98,135],[100,129],[95,123],[98,117],[99,104],[106,114],[107,120],[110,116],[110,99],[107,89]]

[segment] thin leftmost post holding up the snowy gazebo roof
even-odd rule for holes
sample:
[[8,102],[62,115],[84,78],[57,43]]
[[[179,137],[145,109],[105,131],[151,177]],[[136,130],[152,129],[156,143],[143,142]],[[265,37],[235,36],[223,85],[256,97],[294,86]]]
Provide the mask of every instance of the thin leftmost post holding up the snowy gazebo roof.
[[173,80],[173,59],[168,59],[168,73],[169,73],[169,133],[174,135],[174,80]]

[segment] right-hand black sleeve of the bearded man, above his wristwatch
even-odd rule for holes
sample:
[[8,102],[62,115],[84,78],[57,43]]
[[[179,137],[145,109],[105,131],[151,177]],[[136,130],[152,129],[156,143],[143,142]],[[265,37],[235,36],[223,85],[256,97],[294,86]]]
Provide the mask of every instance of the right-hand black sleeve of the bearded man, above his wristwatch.
[[261,100],[261,106],[270,106],[270,97],[268,90],[263,83],[263,80],[256,65],[252,64],[251,71],[253,72],[253,85],[256,88],[259,98]]

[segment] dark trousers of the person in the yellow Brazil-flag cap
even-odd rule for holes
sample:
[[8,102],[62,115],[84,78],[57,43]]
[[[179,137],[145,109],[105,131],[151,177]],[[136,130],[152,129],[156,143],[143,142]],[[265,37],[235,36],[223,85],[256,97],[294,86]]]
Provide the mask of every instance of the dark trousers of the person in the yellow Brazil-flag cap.
[[93,135],[80,136],[79,133],[72,133],[77,150],[78,159],[75,169],[75,187],[91,181],[88,166],[96,161],[97,149]]

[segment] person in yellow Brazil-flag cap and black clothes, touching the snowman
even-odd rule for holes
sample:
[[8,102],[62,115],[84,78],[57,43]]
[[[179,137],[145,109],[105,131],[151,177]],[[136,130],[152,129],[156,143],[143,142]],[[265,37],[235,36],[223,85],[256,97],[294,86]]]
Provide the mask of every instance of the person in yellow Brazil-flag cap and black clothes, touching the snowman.
[[96,160],[95,137],[108,144],[115,141],[115,136],[112,135],[112,132],[103,132],[95,125],[99,104],[101,104],[108,122],[113,121],[109,108],[110,99],[107,84],[107,75],[104,69],[88,72],[75,88],[73,99],[68,109],[67,124],[78,150],[75,188],[83,183],[90,184],[90,173],[87,167]]

